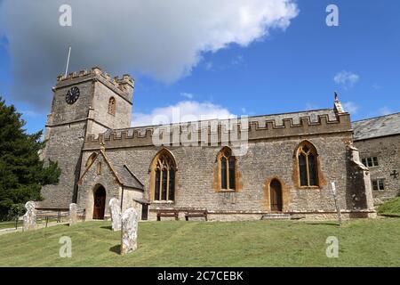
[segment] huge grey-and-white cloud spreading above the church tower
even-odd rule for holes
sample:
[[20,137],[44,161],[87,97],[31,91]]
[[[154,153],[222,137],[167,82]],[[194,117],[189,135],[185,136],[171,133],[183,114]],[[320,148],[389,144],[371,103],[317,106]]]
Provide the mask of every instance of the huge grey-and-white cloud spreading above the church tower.
[[188,76],[202,53],[250,45],[272,28],[287,28],[299,12],[295,0],[69,0],[72,27],[60,27],[64,3],[0,2],[14,99],[47,107],[69,45],[70,70],[99,65],[113,75],[139,72],[171,83]]

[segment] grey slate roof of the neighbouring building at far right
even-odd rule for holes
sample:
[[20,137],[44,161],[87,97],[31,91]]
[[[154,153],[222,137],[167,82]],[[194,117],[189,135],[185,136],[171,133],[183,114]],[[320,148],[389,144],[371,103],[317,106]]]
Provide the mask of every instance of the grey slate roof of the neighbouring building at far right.
[[355,141],[400,134],[400,112],[377,118],[355,121],[352,122],[351,125],[354,130]]

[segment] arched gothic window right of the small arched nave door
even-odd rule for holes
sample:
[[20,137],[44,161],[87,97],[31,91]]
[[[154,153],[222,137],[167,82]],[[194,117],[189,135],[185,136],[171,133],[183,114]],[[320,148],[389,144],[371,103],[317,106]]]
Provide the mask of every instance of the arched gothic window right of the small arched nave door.
[[300,186],[318,186],[316,148],[310,142],[302,142],[297,150]]

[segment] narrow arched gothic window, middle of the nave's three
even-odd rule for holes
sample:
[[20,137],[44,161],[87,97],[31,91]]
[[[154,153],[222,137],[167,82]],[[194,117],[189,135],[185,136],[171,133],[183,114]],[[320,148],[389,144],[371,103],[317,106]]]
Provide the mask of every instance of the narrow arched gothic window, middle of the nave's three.
[[218,155],[220,166],[220,190],[236,190],[236,158],[232,150],[223,148]]

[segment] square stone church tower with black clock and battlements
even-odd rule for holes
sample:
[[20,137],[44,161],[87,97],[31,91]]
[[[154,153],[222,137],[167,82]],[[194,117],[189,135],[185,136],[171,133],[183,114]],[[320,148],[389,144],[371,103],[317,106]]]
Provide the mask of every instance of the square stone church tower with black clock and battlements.
[[42,188],[40,208],[68,208],[76,202],[84,138],[131,126],[133,87],[129,75],[111,78],[100,68],[57,77],[41,156],[58,161],[61,175],[58,185]]

